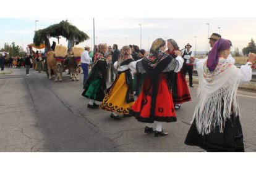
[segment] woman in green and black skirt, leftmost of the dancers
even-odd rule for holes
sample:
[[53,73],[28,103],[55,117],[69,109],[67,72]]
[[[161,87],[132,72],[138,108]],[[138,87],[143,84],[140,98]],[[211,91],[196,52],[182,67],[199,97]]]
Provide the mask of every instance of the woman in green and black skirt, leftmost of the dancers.
[[105,97],[106,91],[106,74],[107,74],[107,62],[105,59],[105,52],[107,50],[107,44],[98,45],[98,55],[93,64],[93,68],[87,77],[82,93],[84,97],[89,99],[88,108],[98,108],[99,105],[95,103],[95,100],[101,102]]

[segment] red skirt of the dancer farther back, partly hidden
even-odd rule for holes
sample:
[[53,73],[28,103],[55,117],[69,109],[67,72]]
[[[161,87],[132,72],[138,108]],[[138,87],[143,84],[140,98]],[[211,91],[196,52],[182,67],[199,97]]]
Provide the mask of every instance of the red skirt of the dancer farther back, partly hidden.
[[[175,74],[175,73],[174,73]],[[182,71],[176,73],[176,79],[174,78],[173,84],[173,103],[181,104],[184,102],[189,102],[191,100],[189,87],[187,86],[187,81]]]

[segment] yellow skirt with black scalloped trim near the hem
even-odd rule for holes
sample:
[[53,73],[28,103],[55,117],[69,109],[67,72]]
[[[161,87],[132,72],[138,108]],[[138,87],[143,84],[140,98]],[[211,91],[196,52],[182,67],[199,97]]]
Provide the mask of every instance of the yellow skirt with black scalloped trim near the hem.
[[134,102],[126,103],[126,73],[121,73],[114,80],[113,86],[106,93],[100,107],[103,110],[113,111],[116,113],[128,114]]

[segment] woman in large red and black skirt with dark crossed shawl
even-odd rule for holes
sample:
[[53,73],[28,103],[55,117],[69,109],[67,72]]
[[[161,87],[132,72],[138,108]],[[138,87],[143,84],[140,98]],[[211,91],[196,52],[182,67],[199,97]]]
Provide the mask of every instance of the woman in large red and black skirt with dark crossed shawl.
[[153,127],[145,127],[145,133],[155,132],[155,137],[166,136],[168,132],[162,129],[162,122],[177,121],[173,105],[171,92],[170,71],[181,70],[184,60],[181,51],[175,51],[176,59],[164,52],[166,42],[158,38],[153,41],[150,54],[139,60],[136,70],[145,73],[142,92],[135,101],[130,115],[135,116],[143,123],[154,123],[156,121],[156,131]]

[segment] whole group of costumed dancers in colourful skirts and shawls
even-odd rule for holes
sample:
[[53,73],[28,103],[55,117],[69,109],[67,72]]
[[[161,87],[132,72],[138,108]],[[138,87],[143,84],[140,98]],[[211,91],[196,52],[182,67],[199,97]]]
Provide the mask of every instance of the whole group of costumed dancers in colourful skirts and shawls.
[[[210,42],[214,42],[213,48],[205,59],[190,60],[197,65],[199,100],[185,144],[208,152],[244,152],[237,87],[252,78],[256,55],[250,53],[249,61],[239,69],[229,55],[231,41],[213,34]],[[109,111],[110,117],[117,121],[123,115],[155,123],[155,128],[145,126],[144,132],[155,137],[167,136],[163,122],[177,121],[176,110],[181,103],[192,100],[182,73],[186,62],[177,42],[158,38],[151,44],[150,52],[137,50],[138,55],[136,46],[122,47],[112,63],[116,78],[111,75],[113,84],[107,88],[108,69],[112,67],[109,56],[105,55],[109,47],[98,45],[92,70],[85,77],[82,95],[89,99],[87,107]],[[95,101],[101,103],[97,105]]]

